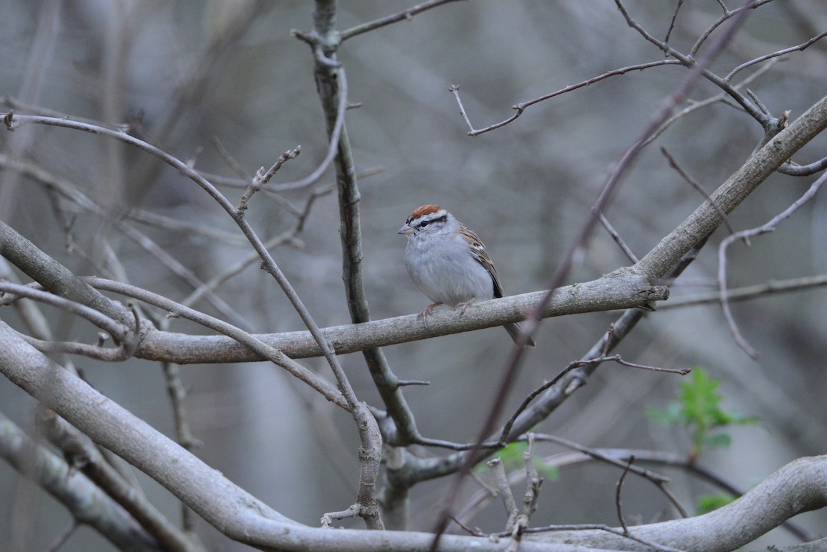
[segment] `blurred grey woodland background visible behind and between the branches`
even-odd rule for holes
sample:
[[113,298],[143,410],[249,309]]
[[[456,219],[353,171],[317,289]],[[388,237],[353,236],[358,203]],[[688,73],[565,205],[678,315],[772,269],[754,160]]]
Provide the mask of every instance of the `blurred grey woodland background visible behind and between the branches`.
[[[675,2],[629,0],[636,17],[662,37]],[[0,18],[0,94],[24,104],[16,112],[42,107],[71,117],[131,122],[144,136],[179,159],[213,174],[237,176],[213,145],[218,138],[245,174],[270,166],[285,150],[302,145],[298,159],[285,164],[275,183],[312,171],[327,144],[323,113],[313,81],[313,57],[290,30],[308,30],[313,2],[281,0],[102,1],[6,0]],[[345,29],[409,7],[401,0],[340,2],[338,27]],[[743,30],[715,60],[726,74],[734,66],[800,44],[827,28],[821,2],[782,0],[750,13]],[[718,2],[686,2],[671,43],[688,50],[699,33],[719,17]],[[801,115],[827,90],[827,43],[786,56],[750,88],[778,116]],[[404,239],[396,229],[409,212],[435,202],[480,235],[495,260],[506,293],[542,289],[562,252],[588,216],[609,169],[639,136],[665,95],[686,70],[667,66],[606,79],[528,108],[509,126],[466,136],[457,103],[448,92],[460,86],[476,127],[512,114],[511,106],[611,69],[662,59],[662,53],[627,26],[614,2],[454,2],[424,12],[342,45],[349,99],[360,107],[347,113],[356,168],[380,172],[362,178],[361,214],[365,285],[371,316],[417,312],[427,299],[410,283],[402,262]],[[758,66],[757,66],[758,67]],[[756,69],[757,69],[756,67]],[[747,69],[735,82],[752,74]],[[719,90],[701,82],[691,100]],[[642,256],[684,219],[702,197],[686,184],[658,151],[667,148],[705,188],[713,190],[737,169],[761,139],[758,124],[742,111],[717,103],[683,117],[660,136],[624,179],[607,217],[633,251]],[[26,159],[65,179],[104,207],[81,210],[48,192],[34,178],[8,168],[0,172],[0,217],[76,274],[117,274],[108,255],[117,255],[128,280],[180,300],[191,284],[136,240],[117,221],[136,209],[199,230],[159,222],[135,222],[201,280],[219,274],[246,256],[226,214],[200,188],[140,151],[93,135],[44,126],[0,132],[3,159]],[[825,154],[820,137],[800,154],[801,163]],[[730,220],[737,229],[758,226],[793,202],[811,178],[781,174],[769,178]],[[333,183],[332,171],[317,188]],[[312,188],[313,189],[313,188]],[[237,201],[241,190],[225,189]],[[309,190],[282,194],[303,206]],[[249,210],[260,236],[268,238],[295,224],[283,201],[257,194]],[[751,248],[729,252],[729,285],[761,283],[827,272],[827,200],[824,193],[774,233]],[[273,250],[320,326],[350,318],[341,279],[341,251],[335,194],[313,204],[296,239]],[[224,239],[208,231],[226,232]],[[672,297],[714,286],[719,230],[696,263],[681,276]],[[67,238],[70,236],[70,239]],[[569,283],[600,277],[629,264],[600,231]],[[237,313],[231,321],[256,332],[303,329],[299,317],[257,263],[218,289]],[[194,307],[216,316],[207,302]],[[747,489],[799,456],[823,454],[827,442],[827,309],[825,292],[762,297],[734,304],[743,335],[762,353],[749,359],[735,345],[713,304],[655,312],[619,347],[633,362],[670,367],[702,364],[720,381],[726,408],[758,416],[760,426],[731,432],[727,449],[708,450],[701,460]],[[93,331],[71,316],[49,312],[60,339],[93,340]],[[4,310],[12,323],[14,314]],[[616,313],[568,316],[543,322],[538,348],[531,351],[509,397],[513,410],[533,388],[582,355]],[[202,332],[186,321],[171,329]],[[497,392],[510,341],[499,329],[451,335],[388,347],[385,354],[404,379],[426,379],[429,387],[406,388],[423,435],[466,441],[478,431]],[[379,404],[361,355],[342,362],[359,397]],[[319,359],[305,365],[329,377]],[[173,421],[160,367],[139,360],[103,364],[78,359],[89,382],[152,426],[173,435]],[[347,507],[357,483],[356,432],[351,417],[335,410],[304,386],[266,364],[195,365],[182,369],[189,388],[187,407],[194,435],[203,440],[196,454],[234,482],[285,515],[308,524],[323,512]],[[688,450],[688,438],[645,415],[665,407],[681,379],[605,365],[587,388],[555,412],[541,431],[582,445]],[[2,411],[32,429],[34,401],[0,381]],[[538,444],[541,454],[559,450]],[[424,453],[423,453],[424,454]],[[676,493],[711,493],[704,484],[669,469]],[[547,482],[534,518],[547,523],[616,524],[614,482],[619,473],[602,465],[564,469]],[[147,478],[141,481],[164,512],[177,519],[172,497]],[[412,528],[432,528],[444,482],[414,489]],[[469,490],[469,492],[471,492]],[[663,497],[645,482],[628,478],[624,488],[627,521],[671,516]],[[0,464],[0,535],[12,531],[14,508],[27,501],[31,550],[44,550],[69,516],[45,493],[32,493],[17,474]],[[18,506],[16,506],[18,505]],[[14,521],[17,520],[17,521]],[[827,526],[822,513],[800,516],[815,531]],[[361,526],[360,521],[343,522]],[[348,525],[350,524],[350,525]],[[492,505],[475,525],[499,530],[502,515]],[[211,550],[241,550],[202,523]],[[772,542],[790,537],[775,531]],[[82,530],[62,550],[109,550],[93,531]]]

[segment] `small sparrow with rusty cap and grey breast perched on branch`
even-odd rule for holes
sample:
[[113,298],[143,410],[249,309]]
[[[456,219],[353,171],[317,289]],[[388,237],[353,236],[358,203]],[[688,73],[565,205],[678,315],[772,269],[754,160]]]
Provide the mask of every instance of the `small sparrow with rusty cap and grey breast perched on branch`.
[[[423,321],[434,307],[445,304],[466,308],[479,299],[503,297],[500,278],[480,238],[438,205],[423,205],[399,228],[408,238],[405,265],[420,291],[433,301],[422,312]],[[514,342],[523,333],[519,324],[503,326]],[[527,345],[534,346],[529,336]]]

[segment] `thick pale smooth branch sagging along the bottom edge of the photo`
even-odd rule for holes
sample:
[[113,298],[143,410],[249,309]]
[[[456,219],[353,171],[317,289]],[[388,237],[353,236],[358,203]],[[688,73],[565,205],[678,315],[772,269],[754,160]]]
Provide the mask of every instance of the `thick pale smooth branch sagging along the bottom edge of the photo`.
[[[108,400],[46,358],[0,321],[0,372],[99,445],[112,450],[169,489],[224,535],[257,547],[318,552],[424,552],[433,535],[404,531],[329,531],[303,526],[246,493],[145,421]],[[801,512],[827,506],[827,456],[798,459],[726,507],[704,516],[630,527],[654,542],[681,542],[685,550],[724,552],[754,540]],[[734,531],[737,528],[738,531]],[[576,543],[576,544],[571,544]],[[615,535],[591,531],[525,535],[523,552],[574,552],[582,545],[651,550]],[[443,535],[440,550],[493,552],[504,543]]]

